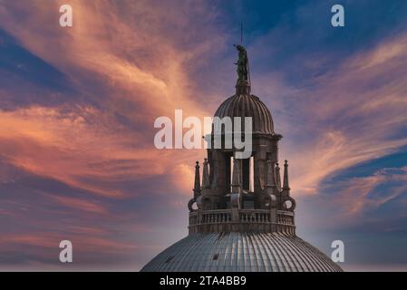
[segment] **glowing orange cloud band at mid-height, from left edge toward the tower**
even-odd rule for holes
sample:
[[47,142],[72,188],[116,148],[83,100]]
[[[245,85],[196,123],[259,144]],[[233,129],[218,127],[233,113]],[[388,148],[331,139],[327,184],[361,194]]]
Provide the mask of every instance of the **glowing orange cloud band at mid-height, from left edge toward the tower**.
[[[193,182],[179,174],[179,165],[174,160],[187,162],[196,153],[156,150],[152,140],[145,140],[137,132],[121,130],[111,116],[93,108],[67,111],[35,106],[0,111],[0,121],[5,124],[0,128],[0,148],[5,160],[73,188],[124,198],[129,192],[109,187],[109,182],[167,174],[174,176],[177,188],[188,192]],[[146,143],[150,146],[145,147]],[[135,147],[137,144],[141,148]],[[190,168],[193,170],[193,161]],[[180,180],[186,181],[186,185],[182,186]]]

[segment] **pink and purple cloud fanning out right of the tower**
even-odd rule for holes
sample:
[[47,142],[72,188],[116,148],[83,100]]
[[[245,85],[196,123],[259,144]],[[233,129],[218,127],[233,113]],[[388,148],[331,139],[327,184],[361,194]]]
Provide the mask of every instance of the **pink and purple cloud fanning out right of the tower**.
[[355,53],[286,101],[298,112],[288,120],[291,140],[283,147],[296,194],[316,194],[335,173],[407,144],[407,50],[400,49],[406,44],[402,34]]

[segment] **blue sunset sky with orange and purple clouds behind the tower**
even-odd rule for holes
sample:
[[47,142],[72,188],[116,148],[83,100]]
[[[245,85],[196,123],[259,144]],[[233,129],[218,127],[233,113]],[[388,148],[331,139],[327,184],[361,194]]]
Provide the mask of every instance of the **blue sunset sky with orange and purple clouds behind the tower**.
[[0,0],[0,270],[138,271],[188,234],[205,150],[156,149],[154,120],[234,93],[241,23],[298,236],[343,240],[345,270],[407,270],[403,0]]

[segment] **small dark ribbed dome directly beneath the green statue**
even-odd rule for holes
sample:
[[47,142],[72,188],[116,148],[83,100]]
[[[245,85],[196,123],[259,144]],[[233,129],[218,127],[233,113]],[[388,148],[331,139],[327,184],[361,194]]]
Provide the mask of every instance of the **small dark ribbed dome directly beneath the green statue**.
[[[252,94],[236,94],[219,106],[215,117],[252,117],[253,133],[274,133],[273,119],[264,102]],[[243,120],[242,120],[243,123]]]

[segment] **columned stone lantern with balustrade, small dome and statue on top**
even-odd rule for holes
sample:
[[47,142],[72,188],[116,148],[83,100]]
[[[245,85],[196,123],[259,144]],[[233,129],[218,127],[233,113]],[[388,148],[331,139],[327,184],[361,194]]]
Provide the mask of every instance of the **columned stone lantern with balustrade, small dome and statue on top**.
[[[189,233],[255,230],[295,235],[296,202],[290,197],[288,186],[282,188],[278,167],[277,144],[282,136],[275,133],[266,104],[250,93],[247,51],[242,45],[235,46],[236,94],[222,102],[215,117],[219,120],[250,117],[251,152],[248,158],[237,158],[235,140],[232,147],[223,146],[225,140],[218,148],[208,148],[202,174],[206,181],[200,187],[198,164],[195,170],[194,198],[189,201]],[[233,125],[234,133],[235,129]],[[227,138],[222,130],[220,134],[212,131],[211,138],[214,134]],[[287,165],[284,173],[288,183]]]

